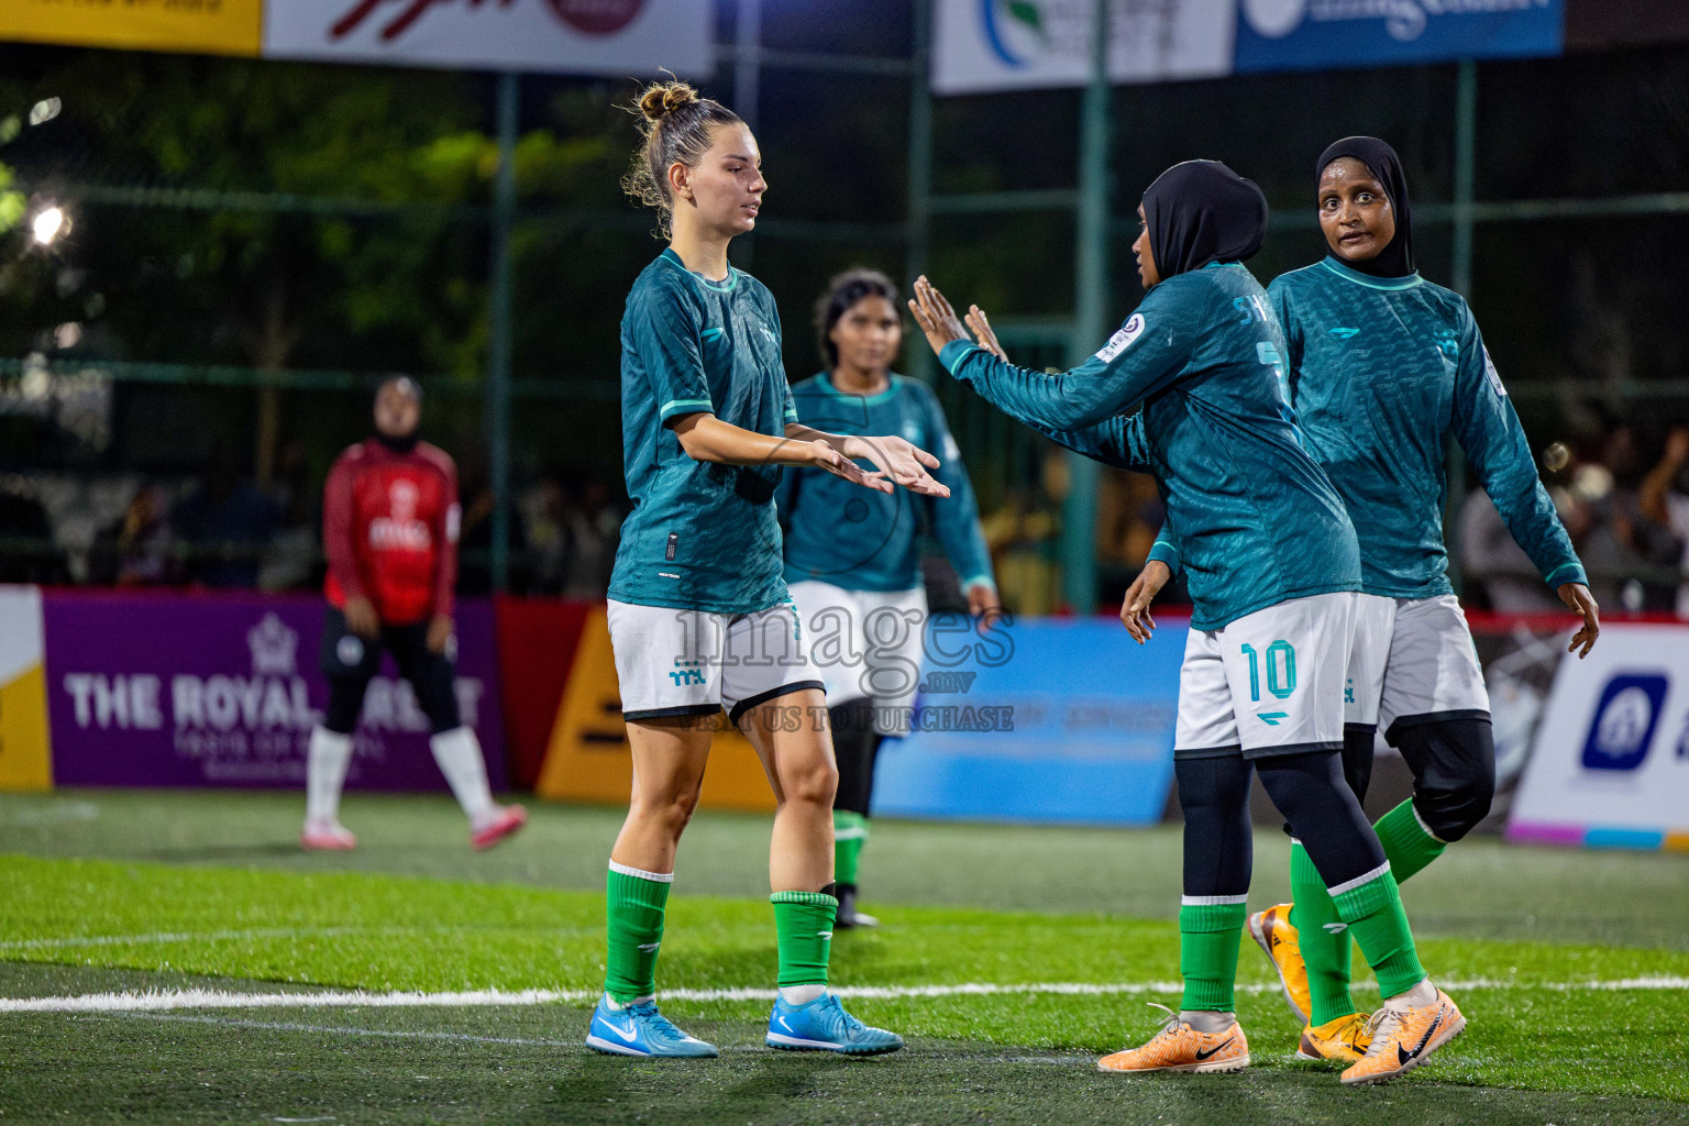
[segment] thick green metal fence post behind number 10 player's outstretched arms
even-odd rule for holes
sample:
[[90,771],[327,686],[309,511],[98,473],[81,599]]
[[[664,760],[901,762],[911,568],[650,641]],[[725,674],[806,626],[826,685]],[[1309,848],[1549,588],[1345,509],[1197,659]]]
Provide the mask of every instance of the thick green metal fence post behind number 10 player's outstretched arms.
[[[1074,317],[1067,363],[1078,366],[1108,329],[1108,5],[1096,0],[1091,17],[1091,84],[1084,91],[1079,132],[1079,214],[1074,248]],[[1101,468],[1089,457],[1067,454],[1067,501],[1062,505],[1062,587],[1076,614],[1096,609],[1096,486]]]

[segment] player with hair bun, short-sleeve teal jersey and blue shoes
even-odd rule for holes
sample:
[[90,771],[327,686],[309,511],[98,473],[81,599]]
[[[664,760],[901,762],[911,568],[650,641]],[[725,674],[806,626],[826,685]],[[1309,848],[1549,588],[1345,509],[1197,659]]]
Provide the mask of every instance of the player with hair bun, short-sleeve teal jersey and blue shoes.
[[949,490],[927,474],[937,459],[902,437],[839,437],[797,422],[774,299],[728,265],[728,243],[757,225],[767,189],[755,137],[684,83],[652,86],[638,108],[645,143],[625,187],[657,208],[671,240],[622,319],[633,512],[610,581],[610,640],[633,797],[610,853],[605,996],[586,1043],[620,1055],[716,1055],[657,1011],[655,964],[676,846],[698,804],[714,716],[726,709],[777,802],[768,880],[780,991],[767,1043],[895,1052],[900,1037],[850,1016],[826,988],[838,771],[821,680],[782,577],[774,490],[780,466],[816,466],[877,491],[893,481],[929,496]]

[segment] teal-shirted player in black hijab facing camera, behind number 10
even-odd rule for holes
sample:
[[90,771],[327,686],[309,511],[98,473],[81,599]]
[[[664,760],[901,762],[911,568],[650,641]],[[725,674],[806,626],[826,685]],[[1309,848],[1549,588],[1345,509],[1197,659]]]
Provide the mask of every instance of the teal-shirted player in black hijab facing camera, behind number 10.
[[[1344,775],[1356,797],[1371,778],[1373,733],[1402,751],[1414,797],[1377,826],[1404,881],[1490,812],[1495,743],[1490,697],[1466,614],[1447,579],[1444,437],[1453,434],[1561,601],[1583,614],[1571,641],[1586,655],[1596,604],[1571,539],[1466,302],[1414,268],[1407,177],[1375,137],[1331,145],[1314,167],[1329,257],[1279,277],[1267,294],[1289,343],[1290,395],[1302,446],[1331,478],[1361,549],[1361,591],[1344,704]],[[1177,566],[1162,537],[1127,594],[1147,609]],[[1290,891],[1250,917],[1285,999],[1304,1023],[1297,1055],[1356,1060],[1373,1037],[1350,996],[1350,935],[1301,844]]]

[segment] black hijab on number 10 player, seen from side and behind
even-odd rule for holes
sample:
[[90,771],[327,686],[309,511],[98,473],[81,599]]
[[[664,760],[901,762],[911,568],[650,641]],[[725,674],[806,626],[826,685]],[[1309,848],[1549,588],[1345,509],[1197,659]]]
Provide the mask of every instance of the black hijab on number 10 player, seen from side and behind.
[[1252,258],[1267,236],[1267,196],[1219,160],[1186,160],[1143,192],[1143,219],[1155,272],[1169,279]]

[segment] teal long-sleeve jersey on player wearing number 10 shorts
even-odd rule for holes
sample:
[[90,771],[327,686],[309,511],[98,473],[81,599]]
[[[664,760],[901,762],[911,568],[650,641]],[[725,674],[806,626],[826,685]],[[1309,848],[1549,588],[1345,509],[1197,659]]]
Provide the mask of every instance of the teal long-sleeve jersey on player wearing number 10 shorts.
[[[1284,334],[1236,262],[1167,279],[1083,365],[1044,375],[953,341],[942,365],[1062,444],[1155,474],[1189,576],[1191,625],[1219,630],[1358,591],[1355,528],[1297,439]],[[1130,419],[1143,403],[1142,420]]]

